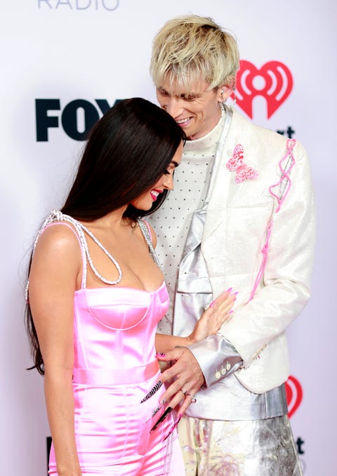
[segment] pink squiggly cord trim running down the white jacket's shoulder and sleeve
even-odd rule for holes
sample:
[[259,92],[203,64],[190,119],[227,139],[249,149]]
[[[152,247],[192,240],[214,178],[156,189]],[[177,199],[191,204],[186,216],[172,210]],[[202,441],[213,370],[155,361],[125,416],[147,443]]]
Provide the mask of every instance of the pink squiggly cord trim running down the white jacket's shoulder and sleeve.
[[[269,187],[270,194],[272,194],[272,197],[275,197],[278,204],[277,209],[275,210],[275,213],[277,213],[279,209],[281,208],[282,204],[284,203],[284,200],[286,199],[286,195],[288,194],[291,188],[292,182],[290,178],[290,173],[291,173],[291,169],[296,164],[295,157],[293,157],[293,147],[295,147],[295,145],[296,145],[295,139],[288,139],[286,141],[286,154],[284,154],[284,157],[282,157],[282,159],[279,161],[279,168],[281,169],[281,178],[279,179],[277,183],[275,183],[275,185],[270,185]],[[290,158],[290,163],[289,161],[287,161],[286,163],[287,170],[286,170],[286,168],[283,167],[283,162],[288,158]],[[272,189],[274,189],[275,187],[280,187],[282,183],[284,182],[284,180],[286,180],[284,192],[281,193],[281,195],[279,196],[275,194],[272,191]],[[256,277],[256,281],[254,283],[253,289],[251,290],[251,296],[249,297],[248,302],[252,300],[253,297],[255,296],[256,289],[258,288],[258,284],[260,283],[260,280],[263,277],[263,273],[265,272],[265,266],[267,265],[267,258],[268,258],[268,251],[269,251],[269,240],[270,240],[270,235],[272,234],[272,225],[274,225],[273,219],[271,219],[267,225],[265,244],[263,245],[263,249],[261,249],[261,253],[263,255],[262,263],[260,265],[260,269],[258,270],[258,275]]]

